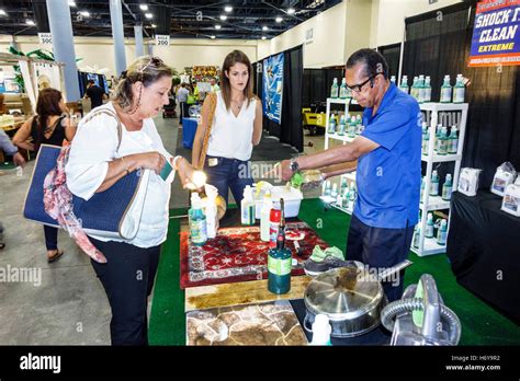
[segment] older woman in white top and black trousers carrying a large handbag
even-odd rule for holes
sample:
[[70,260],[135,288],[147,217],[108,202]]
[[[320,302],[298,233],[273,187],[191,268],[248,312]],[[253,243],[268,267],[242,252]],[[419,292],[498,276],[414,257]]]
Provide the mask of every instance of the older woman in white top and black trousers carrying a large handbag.
[[192,168],[163,147],[154,117],[168,104],[171,69],[156,57],[140,57],[120,78],[103,108],[115,112],[123,125],[109,115],[91,118],[78,127],[65,168],[67,186],[89,200],[134,171],[150,170],[137,235],[132,240],[89,234],[106,263],[92,261],[112,309],[112,345],[147,345],[147,300],[154,287],[161,243],[168,230],[171,184],[160,177],[165,165],[177,170],[183,184]]

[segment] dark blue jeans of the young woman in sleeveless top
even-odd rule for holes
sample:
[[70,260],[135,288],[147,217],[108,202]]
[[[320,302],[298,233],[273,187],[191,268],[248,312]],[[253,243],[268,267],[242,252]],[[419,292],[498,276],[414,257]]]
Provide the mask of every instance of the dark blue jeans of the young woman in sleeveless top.
[[[215,164],[210,166],[208,164]],[[252,185],[250,161],[238,159],[227,159],[218,157],[206,157],[204,172],[207,175],[207,183],[218,189],[218,194],[224,197],[228,204],[228,189],[231,189],[233,197],[237,205],[240,205],[244,198],[244,189],[247,185]]]

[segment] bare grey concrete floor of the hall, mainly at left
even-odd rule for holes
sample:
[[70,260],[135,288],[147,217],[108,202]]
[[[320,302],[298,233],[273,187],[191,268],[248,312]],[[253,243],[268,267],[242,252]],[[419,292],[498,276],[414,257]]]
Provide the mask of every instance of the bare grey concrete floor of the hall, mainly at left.
[[[156,125],[166,149],[174,153],[178,119],[158,117]],[[308,141],[314,147],[304,153],[323,149],[323,136],[305,137]],[[0,221],[7,243],[0,251],[0,272],[33,275],[30,281],[0,278],[0,345],[110,345],[110,305],[89,257],[60,230],[58,245],[65,254],[48,264],[43,228],[22,217],[33,168],[34,161],[21,176],[15,171],[0,174]],[[188,194],[174,182],[170,207],[185,206]]]

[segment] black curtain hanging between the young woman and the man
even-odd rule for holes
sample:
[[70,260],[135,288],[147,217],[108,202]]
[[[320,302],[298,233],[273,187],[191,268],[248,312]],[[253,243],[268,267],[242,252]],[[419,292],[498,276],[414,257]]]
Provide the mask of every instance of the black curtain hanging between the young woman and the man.
[[[295,48],[283,51],[283,96],[282,96],[282,124],[268,119],[263,116],[263,129],[270,136],[280,139],[280,142],[290,145],[303,152],[303,126],[302,126],[302,82],[303,82],[303,48]],[[263,60],[258,62],[263,65]],[[253,70],[258,71],[257,65]],[[262,73],[257,72],[257,94],[261,96],[263,80]]]

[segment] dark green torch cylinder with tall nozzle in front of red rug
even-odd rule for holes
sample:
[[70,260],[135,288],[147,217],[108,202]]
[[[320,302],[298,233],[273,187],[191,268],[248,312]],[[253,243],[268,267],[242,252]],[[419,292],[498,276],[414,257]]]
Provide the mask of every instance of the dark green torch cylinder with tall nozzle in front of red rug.
[[276,247],[271,249],[268,255],[268,290],[280,295],[291,290],[291,251],[285,247],[285,217],[283,198],[280,198],[280,226],[276,236]]

